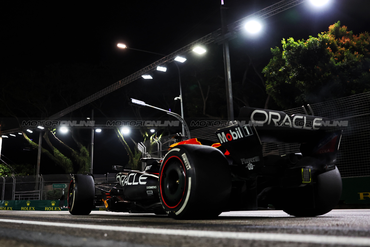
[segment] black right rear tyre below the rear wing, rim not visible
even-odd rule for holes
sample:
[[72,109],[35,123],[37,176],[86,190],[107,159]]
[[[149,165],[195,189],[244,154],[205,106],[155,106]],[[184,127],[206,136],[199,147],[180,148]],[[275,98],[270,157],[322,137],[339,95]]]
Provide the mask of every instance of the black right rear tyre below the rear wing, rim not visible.
[[[305,164],[318,162],[312,157],[303,158]],[[284,211],[292,216],[311,217],[330,212],[339,202],[342,195],[342,178],[337,167],[317,175],[316,181],[305,187],[299,187],[291,195]],[[307,198],[312,198],[312,207],[305,207]]]

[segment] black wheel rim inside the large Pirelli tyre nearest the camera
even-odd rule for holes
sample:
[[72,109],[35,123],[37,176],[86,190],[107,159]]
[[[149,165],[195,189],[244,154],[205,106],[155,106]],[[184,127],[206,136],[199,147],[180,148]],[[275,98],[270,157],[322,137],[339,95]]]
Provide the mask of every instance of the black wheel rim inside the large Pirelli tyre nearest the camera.
[[184,197],[186,187],[185,167],[177,156],[166,160],[161,173],[160,191],[164,204],[177,207]]

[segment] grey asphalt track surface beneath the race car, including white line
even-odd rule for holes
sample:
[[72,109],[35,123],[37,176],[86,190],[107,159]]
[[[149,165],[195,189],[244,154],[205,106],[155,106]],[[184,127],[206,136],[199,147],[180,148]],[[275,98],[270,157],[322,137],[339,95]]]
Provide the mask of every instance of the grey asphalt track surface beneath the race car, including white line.
[[92,211],[0,211],[0,247],[370,246],[370,210],[318,217],[283,211],[222,213],[212,220]]

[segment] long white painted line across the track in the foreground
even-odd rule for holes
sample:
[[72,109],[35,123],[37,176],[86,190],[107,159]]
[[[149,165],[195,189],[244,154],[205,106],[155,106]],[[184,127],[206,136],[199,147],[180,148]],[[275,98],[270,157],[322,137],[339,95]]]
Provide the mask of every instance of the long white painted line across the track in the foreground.
[[344,244],[353,246],[369,246],[370,238],[367,237],[345,237],[345,236],[324,236],[311,234],[287,234],[287,233],[246,233],[232,231],[198,231],[198,230],[175,230],[165,228],[144,228],[144,227],[125,227],[125,226],[100,226],[90,224],[72,224],[29,220],[9,220],[0,219],[4,223],[31,224],[38,226],[71,227],[80,229],[106,230],[106,231],[126,231],[132,233],[163,234],[189,237],[209,237],[209,238],[231,238],[242,240],[260,241],[283,241],[296,243],[315,243],[315,244]]

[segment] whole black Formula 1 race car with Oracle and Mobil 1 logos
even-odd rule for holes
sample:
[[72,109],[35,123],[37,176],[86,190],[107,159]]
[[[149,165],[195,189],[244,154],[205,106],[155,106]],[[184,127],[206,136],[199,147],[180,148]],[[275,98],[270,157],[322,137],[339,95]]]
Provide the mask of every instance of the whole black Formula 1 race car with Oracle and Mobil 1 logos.
[[[144,171],[113,166],[119,171],[114,184],[75,174],[68,210],[86,215],[105,208],[189,219],[259,208],[318,216],[336,206],[342,194],[335,165],[342,130],[328,130],[335,121],[242,107],[233,123],[216,131],[218,141],[180,139],[163,159],[143,158]],[[263,156],[262,142],[298,143],[300,152]]]

